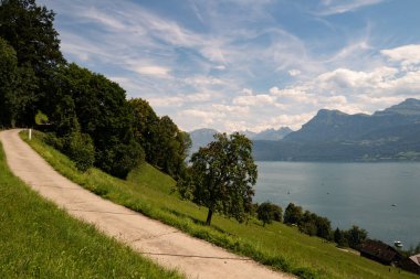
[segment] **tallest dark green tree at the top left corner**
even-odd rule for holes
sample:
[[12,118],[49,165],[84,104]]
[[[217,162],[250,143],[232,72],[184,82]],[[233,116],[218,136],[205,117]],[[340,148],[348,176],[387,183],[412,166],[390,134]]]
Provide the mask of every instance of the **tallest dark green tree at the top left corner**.
[[32,125],[38,109],[52,107],[51,77],[65,62],[53,21],[53,11],[36,6],[34,0],[0,0],[0,36],[15,50],[21,82],[31,85],[20,86],[17,93],[15,103],[22,103],[24,109],[19,114],[21,125]]

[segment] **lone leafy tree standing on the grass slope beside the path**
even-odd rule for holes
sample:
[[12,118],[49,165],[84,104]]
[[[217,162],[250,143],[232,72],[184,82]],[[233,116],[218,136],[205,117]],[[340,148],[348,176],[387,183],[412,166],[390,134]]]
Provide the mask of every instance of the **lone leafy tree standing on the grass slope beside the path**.
[[238,132],[218,133],[214,139],[191,157],[193,202],[209,208],[207,225],[214,212],[243,222],[252,207],[258,176],[252,142]]

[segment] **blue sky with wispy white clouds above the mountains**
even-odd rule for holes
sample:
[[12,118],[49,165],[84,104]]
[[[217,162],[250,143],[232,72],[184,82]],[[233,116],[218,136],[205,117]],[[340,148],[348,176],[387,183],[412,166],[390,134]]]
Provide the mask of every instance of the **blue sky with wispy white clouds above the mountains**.
[[419,0],[38,0],[61,50],[186,131],[420,98]]

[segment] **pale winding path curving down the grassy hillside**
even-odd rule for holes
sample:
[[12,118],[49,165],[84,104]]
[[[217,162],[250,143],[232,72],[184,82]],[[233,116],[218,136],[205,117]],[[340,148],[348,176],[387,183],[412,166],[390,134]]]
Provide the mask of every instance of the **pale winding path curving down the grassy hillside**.
[[103,200],[55,172],[19,138],[19,131],[0,132],[8,164],[17,176],[71,215],[95,224],[159,265],[188,278],[294,278]]

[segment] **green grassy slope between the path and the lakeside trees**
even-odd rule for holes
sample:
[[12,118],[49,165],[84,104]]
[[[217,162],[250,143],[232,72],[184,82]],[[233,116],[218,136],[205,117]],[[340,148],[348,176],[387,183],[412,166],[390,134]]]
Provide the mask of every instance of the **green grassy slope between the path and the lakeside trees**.
[[207,227],[203,225],[207,208],[181,201],[171,191],[175,182],[149,165],[143,165],[123,181],[97,169],[77,172],[73,162],[40,140],[40,133],[35,133],[30,144],[59,172],[82,186],[274,269],[301,278],[418,278],[396,268],[389,271],[387,266],[342,251],[334,244],[280,223],[262,227],[255,219],[245,225],[216,215],[212,226]]

